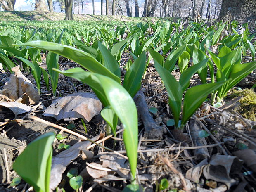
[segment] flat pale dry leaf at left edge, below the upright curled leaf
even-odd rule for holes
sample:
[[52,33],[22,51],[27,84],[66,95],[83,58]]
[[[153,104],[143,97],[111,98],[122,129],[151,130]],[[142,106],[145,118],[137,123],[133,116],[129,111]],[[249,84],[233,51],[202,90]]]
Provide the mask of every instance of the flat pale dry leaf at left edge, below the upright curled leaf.
[[28,113],[32,109],[32,107],[18,102],[2,102],[0,103],[0,109],[3,107],[10,109],[15,115]]

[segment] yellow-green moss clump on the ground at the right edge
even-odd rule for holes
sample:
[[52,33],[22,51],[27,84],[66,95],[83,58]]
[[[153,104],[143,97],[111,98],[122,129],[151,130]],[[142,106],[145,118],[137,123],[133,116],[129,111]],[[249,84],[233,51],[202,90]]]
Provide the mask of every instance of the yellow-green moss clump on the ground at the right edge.
[[256,121],[256,92],[253,89],[231,90],[229,98],[243,96],[239,102],[241,105],[235,109],[244,118]]

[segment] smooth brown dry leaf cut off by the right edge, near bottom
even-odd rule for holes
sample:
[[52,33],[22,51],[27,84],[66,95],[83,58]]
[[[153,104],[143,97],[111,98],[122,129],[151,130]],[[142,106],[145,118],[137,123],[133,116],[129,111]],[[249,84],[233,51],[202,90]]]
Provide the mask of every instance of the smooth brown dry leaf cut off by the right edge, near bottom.
[[244,163],[251,168],[252,171],[256,172],[256,153],[251,149],[244,149],[233,152],[233,155],[239,159],[244,160]]

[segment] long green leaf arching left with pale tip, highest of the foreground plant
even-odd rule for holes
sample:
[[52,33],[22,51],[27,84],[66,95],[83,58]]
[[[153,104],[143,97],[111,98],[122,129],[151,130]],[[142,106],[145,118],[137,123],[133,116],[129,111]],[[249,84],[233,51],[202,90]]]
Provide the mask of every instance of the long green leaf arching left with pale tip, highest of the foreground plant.
[[100,62],[98,62],[94,57],[82,50],[78,50],[74,47],[70,47],[67,45],[61,45],[58,43],[51,43],[46,41],[31,41],[25,43],[24,45],[49,50],[56,54],[62,55],[80,64],[89,71],[108,76],[115,81],[120,82],[120,78],[118,76],[116,76],[114,73],[111,73],[111,71],[109,71],[106,67],[100,64]]

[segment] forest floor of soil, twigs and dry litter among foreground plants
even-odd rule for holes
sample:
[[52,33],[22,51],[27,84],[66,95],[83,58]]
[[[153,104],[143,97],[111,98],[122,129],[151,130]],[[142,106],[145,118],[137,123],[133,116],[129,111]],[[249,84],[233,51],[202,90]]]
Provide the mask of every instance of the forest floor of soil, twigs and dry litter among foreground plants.
[[[250,57],[244,57],[243,62],[250,62],[248,58]],[[121,66],[124,66],[128,59],[128,54],[124,53]],[[59,65],[61,70],[79,66],[63,58],[59,60]],[[40,66],[46,69],[45,63],[41,63]],[[123,67],[121,69],[123,78],[126,69]],[[31,73],[23,74],[36,86]],[[172,74],[179,79],[178,70],[173,71]],[[9,80],[9,76],[9,73],[3,71],[0,73],[0,89]],[[145,192],[255,192],[256,93],[251,89],[255,80],[256,71],[229,92],[224,105],[213,107],[206,101],[183,129],[175,129],[173,125],[168,126],[168,120],[172,119],[172,115],[168,106],[167,91],[153,64],[149,65],[142,80],[141,90],[145,95],[151,116],[157,126],[164,127],[166,133],[160,138],[146,138],[143,122],[139,120],[138,181],[145,188]],[[197,75],[194,75],[190,81],[192,86],[199,82]],[[92,92],[92,90],[88,85],[73,78],[59,75],[57,98],[77,92]],[[47,91],[43,83],[40,103],[29,114],[65,128],[69,123],[73,123],[75,125],[73,131],[88,138],[96,137],[95,140],[101,140],[105,137],[102,133],[105,133],[106,125],[100,114],[89,123],[85,123],[86,132],[80,118],[73,121],[63,119],[57,121],[55,118],[43,116],[45,109],[57,98],[53,97],[51,91]],[[247,110],[246,113],[244,109]],[[60,133],[57,126],[49,126],[27,117],[27,114],[15,116],[11,111],[3,108],[0,111],[2,121],[0,122],[0,182],[7,180],[0,183],[0,192],[26,191],[28,185],[24,181],[16,187],[9,185],[16,173],[6,167],[11,168],[14,159],[39,135],[46,132],[54,132],[56,135]],[[11,119],[17,120],[10,121]],[[119,134],[115,138],[109,137],[103,145],[123,153],[121,129],[122,127],[119,126]],[[202,133],[201,136],[199,132]],[[76,168],[78,174],[83,177],[83,187],[80,189],[83,192],[121,192],[128,184],[129,166],[126,159],[98,146],[88,147],[90,143],[84,141],[82,145],[81,138],[72,134],[62,133],[62,136],[65,138],[54,142],[53,156],[64,157],[63,159],[70,161],[63,172],[59,171],[61,182],[51,180],[52,183],[55,182],[52,185],[63,187],[66,192],[73,191],[67,177],[67,172],[71,168]],[[77,142],[80,142],[79,152],[70,157],[68,153],[76,150]],[[61,144],[71,147],[65,150],[59,147]],[[88,151],[89,148],[92,153],[90,159],[80,153],[80,150]],[[244,164],[237,156],[244,160]],[[57,165],[61,163],[57,162]],[[95,169],[96,165],[100,168]],[[164,190],[158,188],[162,179],[168,180],[168,187]]]

